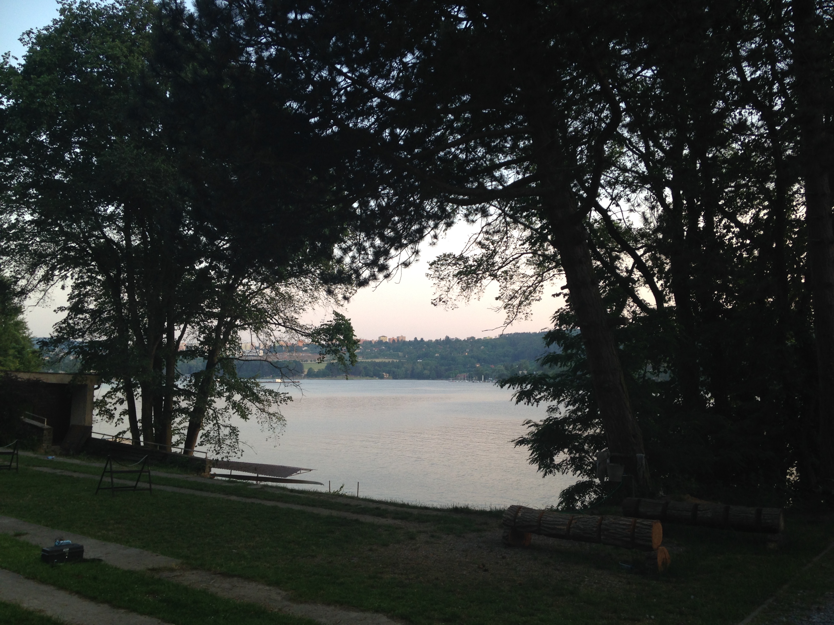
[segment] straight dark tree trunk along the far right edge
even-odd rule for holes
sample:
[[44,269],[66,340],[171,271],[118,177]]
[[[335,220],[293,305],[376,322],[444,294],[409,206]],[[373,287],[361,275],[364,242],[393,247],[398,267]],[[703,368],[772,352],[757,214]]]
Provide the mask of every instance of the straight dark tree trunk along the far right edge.
[[831,217],[831,42],[813,0],[793,0],[794,67],[816,339],[821,482],[834,490],[834,223]]

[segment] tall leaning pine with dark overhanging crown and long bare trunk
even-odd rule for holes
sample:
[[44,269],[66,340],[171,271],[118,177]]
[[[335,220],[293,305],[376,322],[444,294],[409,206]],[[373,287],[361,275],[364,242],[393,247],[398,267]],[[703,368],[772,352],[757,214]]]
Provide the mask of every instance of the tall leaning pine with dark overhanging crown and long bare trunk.
[[558,251],[605,436],[636,468],[641,432],[584,223],[621,119],[608,77],[619,10],[606,2],[197,6],[240,42],[245,62],[294,87],[320,132],[358,148],[351,177],[368,181],[362,189],[374,190],[375,205],[382,198],[404,223],[497,211],[525,228],[526,240]]

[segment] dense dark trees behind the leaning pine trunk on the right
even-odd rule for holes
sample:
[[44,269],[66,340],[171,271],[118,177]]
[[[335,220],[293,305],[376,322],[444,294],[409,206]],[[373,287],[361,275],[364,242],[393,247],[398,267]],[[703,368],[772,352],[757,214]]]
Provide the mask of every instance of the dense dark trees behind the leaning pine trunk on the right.
[[[625,259],[641,250],[657,285],[644,283],[655,308],[622,310],[616,336],[654,477],[676,492],[784,502],[826,488],[820,433],[831,415],[815,352],[830,350],[811,323],[826,313],[807,280],[815,235],[803,223],[787,8],[686,2],[642,13],[613,81],[622,152],[605,195],[631,213],[620,224],[631,241],[623,232],[603,247]],[[610,229],[598,216],[592,234]],[[604,260],[613,295],[627,265]],[[520,401],[558,403],[517,444],[545,472],[585,476],[563,493],[568,507],[600,493],[601,447],[571,309],[569,299],[548,340],[563,347],[553,364],[576,375],[510,381]]]

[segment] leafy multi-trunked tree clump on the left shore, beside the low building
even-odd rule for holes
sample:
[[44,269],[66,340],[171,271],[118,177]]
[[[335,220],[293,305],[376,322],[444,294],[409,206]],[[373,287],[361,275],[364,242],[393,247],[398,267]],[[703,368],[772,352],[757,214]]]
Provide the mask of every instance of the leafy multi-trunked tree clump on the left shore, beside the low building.
[[239,332],[352,348],[349,320],[299,312],[351,292],[334,248],[354,209],[305,158],[326,139],[286,107],[253,111],[245,75],[212,82],[222,59],[187,31],[172,51],[164,18],[144,0],[67,2],[22,64],[4,59],[3,257],[29,288],[68,283],[48,347],[112,385],[99,408],[134,444],[192,449],[202,432],[234,451],[229,416],[280,423],[287,398],[237,375]]

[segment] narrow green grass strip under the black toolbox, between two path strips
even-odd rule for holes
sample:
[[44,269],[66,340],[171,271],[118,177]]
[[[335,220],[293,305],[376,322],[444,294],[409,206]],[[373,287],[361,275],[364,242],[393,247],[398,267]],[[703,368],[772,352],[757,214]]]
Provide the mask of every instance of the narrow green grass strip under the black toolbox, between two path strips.
[[206,622],[234,622],[236,625],[313,623],[305,618],[276,614],[249,603],[183,587],[144,572],[123,571],[103,562],[50,566],[40,561],[40,552],[40,547],[0,534],[0,567],[75,592],[95,602],[123,607],[165,622],[182,625],[203,625]]

